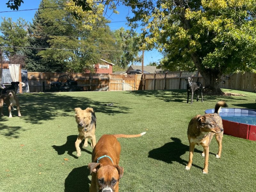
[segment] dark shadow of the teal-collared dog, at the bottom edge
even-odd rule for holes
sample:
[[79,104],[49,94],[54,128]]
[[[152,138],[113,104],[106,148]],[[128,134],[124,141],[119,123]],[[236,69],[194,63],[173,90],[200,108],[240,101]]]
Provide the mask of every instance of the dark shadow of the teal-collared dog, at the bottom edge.
[[88,166],[73,169],[65,179],[65,192],[84,192],[89,191],[91,181],[88,178],[90,171]]

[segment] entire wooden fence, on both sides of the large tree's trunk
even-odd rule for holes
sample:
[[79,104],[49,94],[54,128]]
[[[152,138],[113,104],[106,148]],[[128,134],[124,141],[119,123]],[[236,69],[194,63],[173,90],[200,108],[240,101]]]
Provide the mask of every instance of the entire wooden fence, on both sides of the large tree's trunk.
[[[50,89],[50,84],[56,82],[58,77],[68,75],[77,81],[78,86],[84,90],[92,91],[134,91],[134,90],[164,90],[186,89],[186,77],[192,77],[193,81],[199,81],[204,86],[204,78],[198,71],[178,71],[156,74],[97,74],[97,73],[40,73],[28,72],[28,85],[30,92],[43,92]],[[227,76],[227,79],[225,79]],[[220,79],[220,87],[242,91],[256,92],[256,74],[230,74],[223,75]],[[65,82],[67,79],[61,79]],[[223,81],[225,81],[223,83]]]

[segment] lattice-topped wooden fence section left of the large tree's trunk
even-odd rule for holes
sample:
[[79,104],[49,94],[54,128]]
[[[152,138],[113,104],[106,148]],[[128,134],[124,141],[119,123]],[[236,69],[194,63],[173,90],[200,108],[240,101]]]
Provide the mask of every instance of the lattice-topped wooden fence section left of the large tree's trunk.
[[[78,86],[84,90],[92,91],[134,91],[134,90],[162,90],[162,89],[186,89],[185,77],[191,76],[194,81],[201,81],[203,78],[195,72],[169,72],[164,74],[97,74],[97,73],[41,73],[28,72],[28,85],[30,92],[43,92],[50,89],[50,84],[56,82],[58,77],[68,75],[77,81]],[[67,79],[61,78],[61,82]]]

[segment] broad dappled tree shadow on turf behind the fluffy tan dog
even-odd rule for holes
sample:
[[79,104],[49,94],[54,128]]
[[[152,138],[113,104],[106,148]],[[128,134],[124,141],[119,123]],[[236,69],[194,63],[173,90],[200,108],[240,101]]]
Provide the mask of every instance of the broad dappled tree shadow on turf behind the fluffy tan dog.
[[[76,95],[74,93],[74,95]],[[94,101],[88,97],[58,95],[56,93],[19,94],[20,112],[22,118],[28,123],[42,124],[42,120],[53,120],[56,116],[70,116],[74,108],[92,107],[97,112],[114,115],[129,113],[130,108],[118,106],[105,106],[105,103]],[[75,112],[74,112],[75,114]]]

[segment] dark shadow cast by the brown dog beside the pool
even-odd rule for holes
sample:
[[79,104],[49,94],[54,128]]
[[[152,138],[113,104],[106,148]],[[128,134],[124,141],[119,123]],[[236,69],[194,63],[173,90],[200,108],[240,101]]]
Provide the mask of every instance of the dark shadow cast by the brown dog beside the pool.
[[[189,146],[182,144],[179,138],[171,137],[170,139],[173,140],[173,142],[165,143],[164,146],[149,151],[148,157],[164,161],[169,164],[172,164],[172,162],[175,161],[184,166],[187,165],[188,161],[181,159],[180,156],[184,155],[187,151],[189,151]],[[195,148],[194,153],[200,153],[201,155],[203,151]],[[210,154],[213,153],[210,152]],[[199,167],[195,164],[192,165],[197,168],[203,169],[202,167]]]

